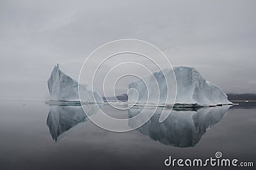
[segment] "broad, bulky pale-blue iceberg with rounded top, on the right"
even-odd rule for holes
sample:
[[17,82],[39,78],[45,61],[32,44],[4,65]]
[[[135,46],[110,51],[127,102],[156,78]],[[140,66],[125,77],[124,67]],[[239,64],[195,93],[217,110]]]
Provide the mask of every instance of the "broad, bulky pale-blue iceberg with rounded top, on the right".
[[[177,86],[175,85],[176,78]],[[143,82],[149,82],[147,87]],[[129,84],[128,103],[144,105],[145,103],[157,104],[158,106],[165,104],[174,104],[174,106],[218,106],[222,104],[232,104],[228,101],[227,95],[220,87],[205,80],[201,74],[193,67],[173,67],[172,69],[164,69],[156,71],[152,75],[136,80]],[[156,87],[151,81],[156,80],[159,85],[159,103],[156,103]],[[166,83],[168,82],[168,83]],[[156,84],[156,83],[155,83]],[[174,90],[177,87],[176,100]],[[157,87],[158,88],[158,87]],[[166,101],[167,90],[172,96],[168,96]],[[138,100],[137,100],[138,99]],[[155,100],[155,101],[152,101]],[[175,103],[173,103],[175,101]],[[158,102],[158,99],[157,99]]]

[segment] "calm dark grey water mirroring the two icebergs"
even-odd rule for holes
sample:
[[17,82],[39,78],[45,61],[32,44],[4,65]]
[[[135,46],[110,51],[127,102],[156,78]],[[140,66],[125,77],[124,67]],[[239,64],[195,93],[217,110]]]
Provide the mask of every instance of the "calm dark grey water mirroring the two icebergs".
[[0,107],[0,169],[176,169],[164,166],[170,155],[205,159],[218,151],[224,158],[256,164],[253,102],[229,109],[176,110],[162,124],[156,114],[140,129],[124,133],[100,129],[79,106],[9,100]]

